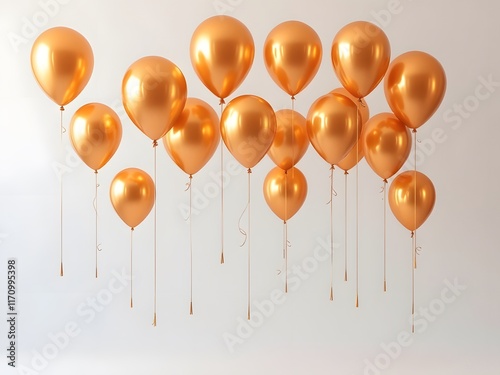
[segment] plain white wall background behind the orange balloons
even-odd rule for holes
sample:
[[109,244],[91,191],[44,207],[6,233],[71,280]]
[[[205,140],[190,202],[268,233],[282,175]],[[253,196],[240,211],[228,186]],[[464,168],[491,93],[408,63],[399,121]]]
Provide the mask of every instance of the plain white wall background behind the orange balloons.
[[[44,11],[42,2],[1,0],[0,5],[0,373],[2,374],[492,374],[500,365],[498,126],[500,6],[492,1],[97,1],[67,0]],[[54,4],[54,1],[47,3]],[[64,3],[64,4],[63,4]],[[388,11],[392,10],[392,13]],[[411,240],[388,214],[388,291],[382,291],[383,195],[365,161],[359,168],[359,308],[354,307],[354,189],[349,175],[348,267],[343,281],[344,181],[335,172],[335,300],[328,299],[330,261],[329,170],[312,147],[299,162],[309,195],[289,221],[293,289],[267,316],[255,303],[283,289],[282,225],[262,196],[272,168],[268,157],[252,174],[252,299],[254,327],[246,326],[246,245],[238,218],[246,200],[246,173],[233,168],[225,190],[225,255],[219,264],[220,196],[213,178],[218,152],[193,179],[194,315],[189,316],[187,176],[158,148],[158,326],[152,327],[153,217],[134,234],[134,302],[129,285],[112,294],[113,272],[129,272],[129,230],[109,201],[109,184],[126,167],[153,173],[147,139],[127,118],[120,87],[128,66],[161,55],[183,71],[188,96],[218,110],[218,100],[197,79],[189,59],[194,29],[224,11],[241,20],[255,41],[255,61],[231,95],[262,96],[276,109],[290,98],[265,70],[264,40],[279,23],[297,19],[323,43],[323,61],[312,83],[297,95],[306,115],[311,103],[340,84],[330,60],[336,32],[355,20],[383,27],[392,57],[423,50],[445,68],[448,88],[436,114],[419,129],[420,171],[434,182],[437,203],[418,232],[417,333],[409,339]],[[41,13],[42,12],[42,13]],[[43,14],[45,12],[45,15]],[[27,22],[38,26],[25,26]],[[23,28],[24,25],[24,28]],[[100,277],[94,278],[94,174],[64,137],[59,110],[37,85],[29,54],[36,36],[54,26],[82,33],[95,56],[92,78],[66,107],[64,123],[88,102],[114,107],[123,140],[99,173]],[[13,35],[23,38],[17,45]],[[491,81],[489,87],[482,82]],[[479,88],[479,86],[483,86]],[[480,92],[479,98],[477,93]],[[488,96],[484,98],[484,96]],[[382,86],[367,98],[371,113],[388,111]],[[458,106],[462,106],[461,112]],[[436,129],[437,133],[435,132]],[[434,133],[433,133],[434,132]],[[434,137],[433,134],[439,134]],[[226,166],[236,165],[226,152]],[[57,164],[59,163],[59,164]],[[64,171],[65,276],[59,276],[59,181]],[[411,166],[410,166],[411,167]],[[204,193],[205,189],[205,193]],[[210,197],[207,197],[207,192]],[[215,192],[215,193],[214,193]],[[204,198],[203,198],[203,197]],[[242,223],[246,227],[246,222]],[[18,263],[17,362],[7,366],[7,259]],[[300,273],[299,273],[300,272]],[[282,273],[283,275],[283,273]],[[447,286],[466,287],[457,294]],[[111,284],[115,285],[115,284]],[[116,284],[121,285],[121,284]],[[448,289],[446,289],[448,288]],[[442,291],[445,290],[443,300]],[[106,297],[112,296],[112,300]],[[455,297],[450,301],[450,296]],[[97,307],[89,301],[95,298]],[[104,302],[105,306],[102,303]],[[102,310],[102,311],[101,311]],[[434,313],[433,313],[434,312]],[[245,322],[245,323],[242,323]],[[62,332],[73,328],[74,337]],[[246,330],[245,327],[246,326]],[[246,334],[246,335],[245,335]],[[240,341],[228,345],[232,336]],[[59,338],[57,348],[51,337]],[[245,338],[242,338],[245,336]],[[405,338],[401,347],[398,338]],[[225,339],[226,338],[226,339]],[[57,340],[56,340],[57,341]],[[401,341],[401,340],[400,340]],[[386,349],[384,349],[386,347]],[[386,351],[391,352],[390,357]]]

